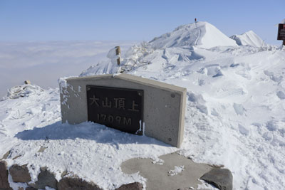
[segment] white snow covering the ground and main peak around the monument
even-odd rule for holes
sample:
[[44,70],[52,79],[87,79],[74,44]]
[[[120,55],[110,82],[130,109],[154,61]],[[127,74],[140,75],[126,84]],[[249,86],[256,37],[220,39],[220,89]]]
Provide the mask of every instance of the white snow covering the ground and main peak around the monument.
[[[145,181],[123,174],[124,160],[178,150],[195,162],[229,168],[234,189],[284,189],[285,48],[237,46],[211,24],[198,22],[133,46],[120,67],[105,61],[81,75],[123,70],[187,88],[181,149],[90,122],[61,124],[58,89],[27,85],[24,97],[0,102],[0,155],[11,149],[6,161],[28,163],[33,180],[46,166],[58,179],[68,171],[115,189]],[[38,152],[41,147],[46,149]]]

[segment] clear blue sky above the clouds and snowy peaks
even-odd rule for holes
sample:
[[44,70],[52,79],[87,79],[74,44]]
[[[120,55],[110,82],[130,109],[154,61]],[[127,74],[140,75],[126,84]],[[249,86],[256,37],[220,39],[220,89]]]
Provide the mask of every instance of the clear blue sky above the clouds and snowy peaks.
[[276,40],[285,0],[0,0],[0,41],[150,41],[177,26],[208,21],[227,36],[252,30]]

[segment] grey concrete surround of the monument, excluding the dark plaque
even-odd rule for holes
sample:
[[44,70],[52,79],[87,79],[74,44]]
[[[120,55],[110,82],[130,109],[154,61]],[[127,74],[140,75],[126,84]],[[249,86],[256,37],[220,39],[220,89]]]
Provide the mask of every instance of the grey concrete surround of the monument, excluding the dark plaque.
[[186,88],[128,74],[68,78],[66,83],[60,83],[63,123],[88,121],[88,85],[143,90],[144,134],[180,147],[184,134]]

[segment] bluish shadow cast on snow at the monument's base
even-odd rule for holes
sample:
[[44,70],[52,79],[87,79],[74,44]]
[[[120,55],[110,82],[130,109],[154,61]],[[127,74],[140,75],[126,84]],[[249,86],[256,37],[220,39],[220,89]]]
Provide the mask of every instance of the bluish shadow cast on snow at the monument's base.
[[105,125],[93,122],[82,122],[78,125],[55,122],[41,128],[25,130],[15,135],[22,140],[56,140],[56,139],[86,139],[105,144],[157,144],[163,147],[170,145],[146,136],[138,136],[121,132]]

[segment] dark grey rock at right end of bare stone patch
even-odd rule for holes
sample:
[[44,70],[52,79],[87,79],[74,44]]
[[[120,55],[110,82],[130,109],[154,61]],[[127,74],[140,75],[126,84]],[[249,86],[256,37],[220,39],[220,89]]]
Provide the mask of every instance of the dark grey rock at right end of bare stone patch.
[[201,179],[222,190],[232,190],[232,172],[229,169],[214,168],[204,174]]

